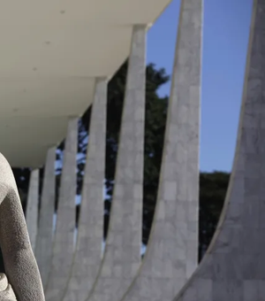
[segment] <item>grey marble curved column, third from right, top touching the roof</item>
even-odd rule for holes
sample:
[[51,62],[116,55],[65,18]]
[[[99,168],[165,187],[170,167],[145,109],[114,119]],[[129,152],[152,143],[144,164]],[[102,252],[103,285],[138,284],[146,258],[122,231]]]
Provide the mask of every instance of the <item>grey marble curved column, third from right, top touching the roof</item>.
[[110,227],[93,301],[119,301],[140,266],[146,27],[133,28]]

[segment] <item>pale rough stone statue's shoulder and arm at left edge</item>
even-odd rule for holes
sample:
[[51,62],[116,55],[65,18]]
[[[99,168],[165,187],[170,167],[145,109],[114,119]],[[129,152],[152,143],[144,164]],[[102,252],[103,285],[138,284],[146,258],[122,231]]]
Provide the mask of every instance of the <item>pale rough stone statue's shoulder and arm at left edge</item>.
[[0,245],[6,271],[6,275],[0,274],[0,301],[44,301],[42,280],[29,242],[16,181],[2,154]]

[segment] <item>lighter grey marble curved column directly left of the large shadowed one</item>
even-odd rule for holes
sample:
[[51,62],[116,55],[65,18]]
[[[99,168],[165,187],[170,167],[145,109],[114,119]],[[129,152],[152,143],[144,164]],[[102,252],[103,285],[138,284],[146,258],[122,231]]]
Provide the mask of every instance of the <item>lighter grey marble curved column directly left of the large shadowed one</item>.
[[171,301],[197,266],[201,0],[183,0],[153,228],[123,301]]

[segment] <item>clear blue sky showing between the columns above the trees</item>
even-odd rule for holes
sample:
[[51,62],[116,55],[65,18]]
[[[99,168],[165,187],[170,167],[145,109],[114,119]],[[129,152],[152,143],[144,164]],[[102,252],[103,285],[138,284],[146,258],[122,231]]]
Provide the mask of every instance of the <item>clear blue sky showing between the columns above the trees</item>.
[[[253,0],[204,0],[201,170],[230,171],[239,121]],[[148,62],[171,74],[180,0],[148,32]],[[169,94],[170,84],[161,89]]]

